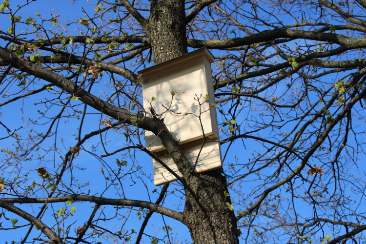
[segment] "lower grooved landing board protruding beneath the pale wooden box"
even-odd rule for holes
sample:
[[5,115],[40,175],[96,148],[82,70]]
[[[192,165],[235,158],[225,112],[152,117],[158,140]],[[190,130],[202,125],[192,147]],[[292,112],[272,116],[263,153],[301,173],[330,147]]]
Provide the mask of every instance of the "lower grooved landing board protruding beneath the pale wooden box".
[[[192,147],[184,147],[183,152],[187,157],[188,161],[193,166],[196,162],[198,153],[201,148],[201,143]],[[169,168],[175,171],[180,177],[182,174],[178,171],[177,165],[173,162],[173,160],[163,154],[156,154]],[[204,172],[217,168],[221,168],[223,166],[221,161],[221,151],[220,151],[220,142],[206,142],[200,155],[198,162],[195,167],[195,172]],[[153,160],[153,168],[154,168],[154,182],[156,185],[161,185],[163,183],[176,181],[176,177],[172,175],[166,168],[164,168],[160,163]]]

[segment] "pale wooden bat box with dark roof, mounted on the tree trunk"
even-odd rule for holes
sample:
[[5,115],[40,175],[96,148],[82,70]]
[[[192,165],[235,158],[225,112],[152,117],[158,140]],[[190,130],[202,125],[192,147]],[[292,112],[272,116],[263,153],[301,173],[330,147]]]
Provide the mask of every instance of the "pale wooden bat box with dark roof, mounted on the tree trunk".
[[[192,166],[198,156],[196,172],[222,167],[220,143],[204,141],[204,137],[206,140],[219,139],[216,108],[212,107],[215,102],[213,61],[207,48],[200,48],[138,72],[142,81],[143,108],[148,116],[154,111],[164,119]],[[159,137],[146,131],[145,140],[146,147],[182,177]],[[153,168],[156,185],[177,180],[154,159]]]

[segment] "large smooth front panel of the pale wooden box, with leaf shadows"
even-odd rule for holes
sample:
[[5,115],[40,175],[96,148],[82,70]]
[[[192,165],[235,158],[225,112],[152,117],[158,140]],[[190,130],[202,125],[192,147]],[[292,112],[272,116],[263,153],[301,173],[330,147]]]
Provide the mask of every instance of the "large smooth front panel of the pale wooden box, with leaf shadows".
[[[151,102],[152,108],[156,114],[161,115],[173,137],[180,143],[202,138],[203,131],[206,136],[214,134],[211,124],[212,116],[210,115],[212,110],[210,104],[204,102],[203,98],[208,92],[203,63],[203,60],[195,62],[194,65],[191,64],[189,69],[185,70],[183,67],[181,73],[176,73],[178,77],[172,78],[171,71],[168,71],[166,76],[157,74],[143,84],[145,111],[150,112],[150,104],[147,100],[151,102],[152,97],[155,97],[156,100]],[[172,90],[176,91],[173,98],[171,96]],[[201,106],[197,100],[202,103]],[[163,149],[160,139],[149,131],[145,133],[145,140],[146,146],[150,150]]]

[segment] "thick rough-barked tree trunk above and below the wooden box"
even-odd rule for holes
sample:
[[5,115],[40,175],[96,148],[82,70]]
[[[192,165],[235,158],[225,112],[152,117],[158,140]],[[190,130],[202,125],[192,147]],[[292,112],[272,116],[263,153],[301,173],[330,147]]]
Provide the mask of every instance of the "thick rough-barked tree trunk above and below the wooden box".
[[[187,53],[183,0],[151,0],[148,21],[147,34],[151,41],[155,64]],[[178,147],[178,143],[174,144]],[[179,148],[173,151],[181,153]],[[182,162],[176,160],[176,164],[182,171],[187,162],[184,158]],[[185,189],[184,224],[189,228],[193,243],[239,243],[236,218],[228,206],[231,204],[230,197],[224,194],[228,191],[224,176],[215,170],[201,174],[183,173],[183,176],[197,196],[193,197]]]

